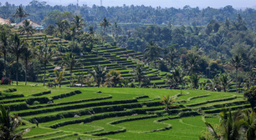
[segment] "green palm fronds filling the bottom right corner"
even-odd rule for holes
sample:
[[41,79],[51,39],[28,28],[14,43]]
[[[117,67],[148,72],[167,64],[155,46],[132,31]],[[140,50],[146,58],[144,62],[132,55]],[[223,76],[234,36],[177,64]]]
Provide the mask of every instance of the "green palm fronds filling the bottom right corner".
[[247,139],[254,140],[256,138],[256,113],[252,109],[231,110],[223,107],[223,111],[219,113],[220,124],[213,126],[209,122],[205,122],[207,132],[202,133],[200,140],[206,139]]

